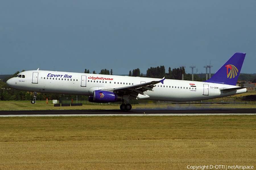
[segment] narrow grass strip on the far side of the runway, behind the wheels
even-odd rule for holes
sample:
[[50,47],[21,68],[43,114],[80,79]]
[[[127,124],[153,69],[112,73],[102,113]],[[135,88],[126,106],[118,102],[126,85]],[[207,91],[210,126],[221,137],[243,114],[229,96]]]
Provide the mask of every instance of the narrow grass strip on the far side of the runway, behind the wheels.
[[[255,101],[247,101],[243,103],[230,104],[210,104],[210,103],[144,103],[133,104],[133,109],[179,109],[179,108],[256,108]],[[46,104],[45,101],[37,101],[31,104],[30,101],[0,101],[0,110],[87,110],[87,109],[120,109],[120,105],[116,103],[106,104],[85,104],[82,106],[54,107],[53,104]]]

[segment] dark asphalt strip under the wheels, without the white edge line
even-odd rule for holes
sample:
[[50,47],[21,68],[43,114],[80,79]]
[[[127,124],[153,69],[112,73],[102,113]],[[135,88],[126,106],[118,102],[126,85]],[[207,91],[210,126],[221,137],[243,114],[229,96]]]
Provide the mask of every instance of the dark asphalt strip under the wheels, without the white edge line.
[[0,111],[0,115],[120,115],[120,114],[256,114],[256,109],[132,109],[121,110],[42,110],[42,111]]

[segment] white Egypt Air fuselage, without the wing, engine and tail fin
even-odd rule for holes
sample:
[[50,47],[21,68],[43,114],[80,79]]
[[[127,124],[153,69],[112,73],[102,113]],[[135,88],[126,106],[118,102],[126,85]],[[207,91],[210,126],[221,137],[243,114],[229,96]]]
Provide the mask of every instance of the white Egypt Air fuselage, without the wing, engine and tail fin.
[[[94,90],[113,89],[125,86],[159,81],[158,78],[69,73],[58,71],[24,71],[7,81],[11,88],[41,93],[93,95]],[[155,84],[153,91],[146,91],[149,100],[161,101],[198,101],[245,93],[246,89],[222,91],[236,88],[226,84],[165,79],[164,83]]]

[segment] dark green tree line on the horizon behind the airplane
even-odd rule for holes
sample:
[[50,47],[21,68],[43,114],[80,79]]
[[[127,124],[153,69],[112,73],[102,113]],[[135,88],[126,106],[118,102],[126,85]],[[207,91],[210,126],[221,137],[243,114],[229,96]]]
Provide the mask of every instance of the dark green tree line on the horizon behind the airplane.
[[[25,70],[22,70],[22,72]],[[13,88],[9,88],[6,84],[6,81],[9,78],[12,78],[19,74],[20,72],[17,71],[15,74],[12,76],[6,77],[3,79],[3,82],[0,82],[0,100],[32,100],[33,99],[33,94],[31,92],[24,92],[20,90],[16,90]],[[85,69],[84,73],[90,73],[89,70]],[[146,75],[143,75],[140,72],[140,69],[133,69],[133,71],[129,71],[129,76],[141,76],[141,77],[150,77],[150,78],[163,78],[165,77],[166,79],[176,79],[176,80],[181,80],[182,79],[182,73],[184,75],[184,80],[191,80],[192,75],[187,74],[185,72],[185,68],[174,68],[171,69],[170,67],[168,68],[168,73],[165,72],[165,67],[164,66],[158,66],[158,67],[150,67],[146,71]],[[95,71],[93,71],[93,74],[96,74]],[[113,75],[113,70],[111,69],[110,71],[107,69],[102,69],[99,74],[103,75]],[[194,74],[194,81],[205,81],[204,78],[200,78],[198,75]],[[241,73],[239,75],[238,81],[251,81],[253,83],[256,83],[256,74],[243,74]],[[63,95],[63,94],[48,94],[48,93],[38,93],[36,100],[60,100],[63,98],[73,98],[76,99],[76,95]],[[79,96],[80,99],[82,100],[87,100],[87,96]]]

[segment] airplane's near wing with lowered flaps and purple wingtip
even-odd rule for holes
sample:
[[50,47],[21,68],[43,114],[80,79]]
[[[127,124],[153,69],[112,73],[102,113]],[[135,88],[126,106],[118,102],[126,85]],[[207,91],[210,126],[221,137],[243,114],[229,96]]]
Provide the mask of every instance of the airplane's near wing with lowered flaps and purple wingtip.
[[144,92],[147,90],[154,91],[153,88],[155,87],[155,84],[157,83],[162,83],[164,84],[165,78],[159,81],[151,81],[151,82],[146,82],[142,84],[136,84],[133,86],[125,86],[125,87],[119,87],[119,88],[112,88],[112,89],[102,89],[104,91],[112,91],[118,94],[126,94],[126,95],[131,95],[133,97],[138,97],[139,94],[145,95]]

